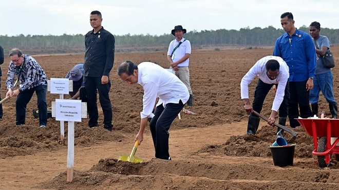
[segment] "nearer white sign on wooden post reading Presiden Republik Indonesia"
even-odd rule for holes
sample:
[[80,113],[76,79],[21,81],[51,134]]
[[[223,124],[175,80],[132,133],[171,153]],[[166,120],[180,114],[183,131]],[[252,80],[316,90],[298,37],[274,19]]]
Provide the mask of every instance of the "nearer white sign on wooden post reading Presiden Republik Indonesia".
[[57,121],[68,121],[67,136],[67,181],[73,180],[74,167],[74,121],[87,118],[87,104],[81,100],[56,99],[52,101],[52,117]]

